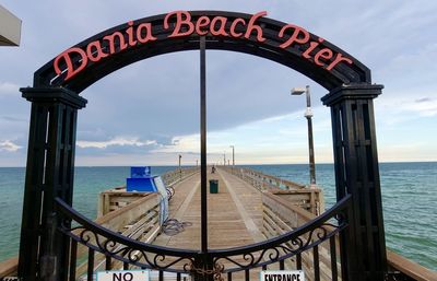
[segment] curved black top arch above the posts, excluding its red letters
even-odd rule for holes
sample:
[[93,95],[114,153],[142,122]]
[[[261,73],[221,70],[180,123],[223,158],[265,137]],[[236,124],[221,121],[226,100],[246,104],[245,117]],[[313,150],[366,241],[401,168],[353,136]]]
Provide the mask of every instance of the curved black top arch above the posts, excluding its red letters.
[[[189,13],[192,16],[192,22],[197,22],[198,19],[203,15],[211,17],[224,16],[228,19],[227,28],[229,27],[231,22],[235,19],[239,17],[248,22],[251,17],[250,14],[224,11],[193,11]],[[75,75],[69,81],[64,81],[64,75],[57,75],[54,69],[55,59],[52,59],[35,72],[34,86],[62,86],[80,93],[105,75],[135,61],[168,52],[199,49],[200,35],[196,32],[190,36],[184,36],[179,38],[168,37],[173,31],[172,28],[164,28],[165,16],[166,14],[161,14],[133,21],[133,27],[138,27],[138,25],[141,23],[151,23],[153,28],[152,33],[157,38],[156,40],[149,42],[147,44],[139,44],[134,47],[119,51],[110,57],[104,58],[96,63],[90,63],[80,74]],[[175,17],[169,19],[170,24],[174,24],[175,21]],[[314,63],[311,59],[305,59],[302,56],[305,49],[308,48],[308,43],[302,46],[292,46],[285,49],[279,47],[286,40],[286,36],[283,38],[277,36],[281,28],[286,25],[285,23],[268,17],[259,17],[257,20],[257,24],[262,26],[263,36],[267,38],[265,42],[257,42],[256,36],[253,35],[249,38],[234,38],[232,36],[214,36],[210,33],[206,35],[206,49],[232,50],[270,59],[303,73],[328,90],[339,87],[342,84],[371,82],[369,69],[333,44],[324,40],[320,43],[319,46],[314,49],[314,51],[316,52],[328,47],[335,52],[346,56],[353,61],[353,63],[340,63],[331,71],[328,71],[327,69]],[[102,39],[107,35],[114,34],[115,32],[125,34],[128,27],[129,25],[127,23],[115,26],[96,34],[74,45],[73,47],[85,49],[90,43]],[[239,26],[239,28],[241,30],[244,26]],[[319,36],[310,34],[309,42],[317,42],[319,38]],[[76,59],[79,60],[80,58]]]

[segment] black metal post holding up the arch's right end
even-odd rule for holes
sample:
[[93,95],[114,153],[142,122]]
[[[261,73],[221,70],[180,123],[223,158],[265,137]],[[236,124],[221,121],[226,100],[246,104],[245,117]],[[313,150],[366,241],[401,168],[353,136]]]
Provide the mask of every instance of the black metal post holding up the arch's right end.
[[331,107],[336,199],[352,195],[341,237],[344,280],[382,281],[387,269],[373,99],[382,85],[347,84],[322,97]]

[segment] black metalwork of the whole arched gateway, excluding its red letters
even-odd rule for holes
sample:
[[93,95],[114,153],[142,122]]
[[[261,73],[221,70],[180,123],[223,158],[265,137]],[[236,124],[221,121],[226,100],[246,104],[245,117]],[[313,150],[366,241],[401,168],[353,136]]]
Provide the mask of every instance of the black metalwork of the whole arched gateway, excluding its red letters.
[[[193,22],[202,15],[227,17],[229,21],[226,28],[229,28],[231,22],[237,17],[245,21],[249,21],[251,17],[249,14],[222,11],[196,11],[190,12],[190,14]],[[331,107],[338,202],[342,204],[346,198],[347,202],[352,200],[352,207],[349,208],[351,212],[345,215],[349,226],[343,227],[345,224],[340,223],[343,226],[339,227],[339,231],[340,229],[343,230],[341,234],[342,279],[382,281],[387,261],[373,112],[373,98],[380,94],[382,86],[371,84],[369,69],[326,40],[317,46],[315,51],[328,47],[347,56],[353,63],[339,65],[328,71],[314,61],[303,58],[302,55],[308,44],[286,49],[280,48],[285,38],[279,38],[277,33],[285,23],[271,19],[260,17],[258,20],[258,24],[263,28],[263,36],[267,38],[265,42],[261,43],[256,39],[256,36],[233,38],[211,34],[200,36],[196,33],[190,36],[169,38],[168,35],[172,31],[163,27],[164,17],[165,15],[156,15],[133,22],[134,26],[141,23],[152,23],[153,35],[157,38],[154,42],[132,46],[121,51],[119,51],[119,46],[116,46],[116,49],[118,49],[116,54],[98,62],[90,63],[68,81],[64,80],[66,74],[56,74],[54,60],[51,60],[35,72],[33,87],[21,89],[23,96],[32,102],[32,118],[19,276],[25,281],[66,280],[69,274],[71,278],[73,272],[67,271],[69,255],[75,253],[78,242],[86,243],[84,238],[72,236],[73,232],[71,232],[70,224],[71,219],[83,221],[70,208],[73,192],[76,112],[86,104],[86,99],[79,96],[79,93],[105,75],[135,61],[162,54],[193,49],[201,50],[202,247],[200,253],[169,250],[150,245],[147,247],[160,251],[161,254],[156,253],[158,258],[162,257],[160,255],[187,257],[192,261],[191,271],[198,280],[212,280],[214,276],[222,272],[232,274],[234,269],[222,268],[218,260],[232,261],[231,256],[233,255],[243,255],[243,258],[248,258],[248,264],[235,262],[237,266],[235,270],[245,270],[246,277],[248,277],[247,270],[250,267],[264,265],[260,260],[257,261],[251,253],[255,249],[272,249],[272,241],[234,251],[208,249],[205,49],[222,49],[251,54],[276,61],[307,75],[330,91],[322,101]],[[175,19],[170,19],[170,21],[173,21],[170,24],[174,24]],[[116,26],[79,43],[74,47],[85,49],[87,44],[101,40],[104,36],[114,32],[126,34],[128,27],[128,24]],[[240,26],[237,31],[241,32],[241,28]],[[316,42],[319,37],[310,34],[310,38]],[[103,48],[107,49],[107,44],[103,43]],[[74,63],[80,63],[79,58],[75,58]],[[349,199],[350,197],[351,199]],[[57,201],[55,201],[55,198],[58,198]],[[55,208],[56,204],[59,209]],[[332,214],[332,212],[329,213]],[[318,222],[323,220],[322,218],[327,216],[323,214],[306,225],[306,230],[314,232],[320,226]],[[109,241],[113,237],[110,233],[97,226],[93,230],[98,230]],[[292,234],[286,234],[286,239],[293,239],[295,237],[293,235],[298,232],[299,230],[296,230]],[[70,242],[66,234],[73,238],[75,243]],[[329,235],[322,236],[329,238]],[[273,241],[280,239],[285,239],[285,236],[280,236]],[[127,238],[123,238],[123,241],[133,243]],[[318,258],[317,244],[296,243],[296,245],[305,247],[311,246],[315,250],[315,259]],[[106,245],[110,246],[110,242]],[[133,245],[138,246],[135,243]],[[294,253],[291,248],[283,249],[291,254]],[[90,264],[93,264],[95,250],[98,251],[98,247],[90,247]],[[155,251],[152,250],[152,253]],[[271,260],[277,260],[280,267],[283,268],[281,258],[275,254],[271,255],[273,255]],[[129,261],[134,264],[134,260]],[[318,266],[315,267],[315,270],[317,268]],[[167,267],[165,270],[170,269]]]

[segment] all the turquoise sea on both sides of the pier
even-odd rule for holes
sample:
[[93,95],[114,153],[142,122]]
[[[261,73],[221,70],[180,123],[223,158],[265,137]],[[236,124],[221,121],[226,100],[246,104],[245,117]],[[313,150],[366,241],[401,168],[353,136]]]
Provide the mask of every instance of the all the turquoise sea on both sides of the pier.
[[[307,165],[248,166],[297,183],[308,183]],[[174,169],[152,167],[153,174]],[[322,187],[327,208],[335,202],[332,164],[316,165],[317,184]],[[17,254],[24,174],[22,167],[0,168],[0,261]],[[129,167],[76,167],[74,208],[96,216],[97,195],[121,186]],[[387,246],[437,270],[437,162],[380,164]]]

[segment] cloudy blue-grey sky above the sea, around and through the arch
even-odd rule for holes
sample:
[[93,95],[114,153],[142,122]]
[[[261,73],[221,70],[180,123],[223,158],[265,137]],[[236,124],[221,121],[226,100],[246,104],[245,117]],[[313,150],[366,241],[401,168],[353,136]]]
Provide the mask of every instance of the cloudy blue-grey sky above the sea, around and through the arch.
[[[380,161],[437,161],[437,1],[147,0],[1,3],[23,21],[20,47],[0,48],[0,166],[24,166],[29,103],[19,87],[70,46],[129,20],[174,10],[268,11],[344,49],[385,85],[375,101]],[[1,28],[1,26],[0,26]],[[327,90],[272,61],[208,51],[209,162],[306,163],[304,96],[311,86],[316,161],[332,162]],[[78,165],[194,164],[199,156],[199,52],[143,60],[82,92]]]

